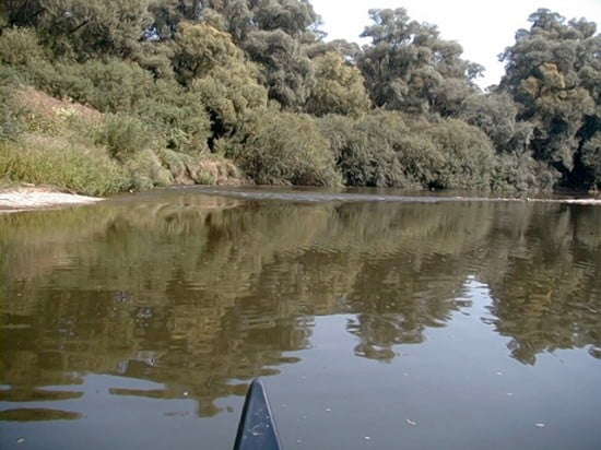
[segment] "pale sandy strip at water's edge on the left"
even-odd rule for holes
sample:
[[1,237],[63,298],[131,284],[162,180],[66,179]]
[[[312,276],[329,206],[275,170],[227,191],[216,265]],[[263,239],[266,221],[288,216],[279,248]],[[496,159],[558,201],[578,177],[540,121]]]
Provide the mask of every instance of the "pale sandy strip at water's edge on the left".
[[102,198],[78,196],[56,188],[19,187],[0,190],[0,213],[95,203]]

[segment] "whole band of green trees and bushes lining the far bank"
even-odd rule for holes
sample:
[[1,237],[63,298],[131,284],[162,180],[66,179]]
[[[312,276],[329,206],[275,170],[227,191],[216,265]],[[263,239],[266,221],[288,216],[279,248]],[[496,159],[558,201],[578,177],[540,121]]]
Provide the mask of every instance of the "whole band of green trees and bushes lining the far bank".
[[[259,183],[601,188],[594,23],[534,12],[482,92],[483,68],[435,25],[402,8],[369,17],[360,49],[325,42],[307,0],[7,0],[0,173],[95,193],[231,182],[232,164]],[[19,92],[60,102],[36,109]],[[62,120],[69,105],[87,122]],[[126,178],[45,179],[31,162],[57,140]]]

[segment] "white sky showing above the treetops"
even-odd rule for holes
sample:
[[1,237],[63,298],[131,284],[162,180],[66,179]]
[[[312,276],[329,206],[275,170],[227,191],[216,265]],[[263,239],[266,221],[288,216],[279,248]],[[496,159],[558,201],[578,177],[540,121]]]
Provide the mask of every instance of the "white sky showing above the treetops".
[[529,28],[528,16],[539,8],[558,12],[566,20],[586,17],[601,29],[601,0],[309,0],[323,21],[326,40],[343,38],[358,44],[370,24],[369,9],[404,8],[417,22],[438,25],[447,40],[463,47],[463,58],[486,69],[479,81],[482,87],[498,83],[504,67],[497,55],[515,42],[519,28]]

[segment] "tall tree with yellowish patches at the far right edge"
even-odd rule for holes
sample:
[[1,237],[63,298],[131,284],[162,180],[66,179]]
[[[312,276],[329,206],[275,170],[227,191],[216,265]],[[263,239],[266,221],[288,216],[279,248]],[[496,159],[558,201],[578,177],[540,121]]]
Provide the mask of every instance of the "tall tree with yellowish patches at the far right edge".
[[518,118],[533,126],[530,149],[573,187],[600,187],[601,36],[585,19],[540,9],[530,29],[500,56],[499,90],[519,104]]

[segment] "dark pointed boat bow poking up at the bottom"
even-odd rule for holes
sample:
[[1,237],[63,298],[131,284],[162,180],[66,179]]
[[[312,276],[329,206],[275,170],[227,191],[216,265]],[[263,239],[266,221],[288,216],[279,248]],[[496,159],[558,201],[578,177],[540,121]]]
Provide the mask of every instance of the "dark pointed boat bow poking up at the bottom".
[[234,450],[280,450],[282,448],[266,390],[256,378],[244,401]]

